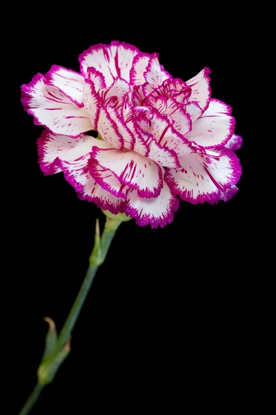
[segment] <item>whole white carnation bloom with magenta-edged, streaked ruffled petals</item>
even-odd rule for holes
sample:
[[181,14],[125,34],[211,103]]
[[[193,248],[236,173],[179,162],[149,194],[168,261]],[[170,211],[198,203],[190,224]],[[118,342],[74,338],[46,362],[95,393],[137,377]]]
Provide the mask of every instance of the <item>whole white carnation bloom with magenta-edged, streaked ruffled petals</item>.
[[177,195],[217,203],[237,192],[242,138],[230,107],[210,98],[208,68],[174,79],[157,53],[124,42],[91,46],[79,62],[81,73],[54,65],[22,86],[24,108],[46,127],[44,174],[63,172],[80,199],[152,228],[172,221]]

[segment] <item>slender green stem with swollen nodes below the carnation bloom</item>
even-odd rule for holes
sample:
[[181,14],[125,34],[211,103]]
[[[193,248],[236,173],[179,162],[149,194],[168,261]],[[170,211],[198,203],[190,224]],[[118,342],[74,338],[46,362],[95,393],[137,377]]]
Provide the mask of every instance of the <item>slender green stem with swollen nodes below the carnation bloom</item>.
[[[28,412],[30,411],[30,409],[32,409],[34,403],[36,402],[37,398],[41,394],[43,387],[48,385],[48,383],[52,382],[61,363],[66,359],[68,353],[70,352],[70,335],[72,333],[72,329],[74,329],[77,317],[79,317],[81,307],[83,306],[83,303],[86,300],[90,286],[97,273],[97,269],[99,268],[99,266],[101,266],[101,264],[103,264],[103,261],[106,259],[110,243],[112,242],[115,232],[117,228],[119,228],[119,225],[121,223],[121,219],[119,216],[113,216],[113,218],[106,217],[106,224],[101,237],[99,234],[99,221],[97,220],[95,245],[92,250],[92,254],[90,255],[90,266],[86,273],[86,277],[83,280],[83,284],[81,285],[75,302],[72,305],[67,320],[64,323],[63,328],[61,329],[59,337],[57,338],[57,340],[54,340],[54,349],[51,351],[50,354],[47,354],[46,358],[42,359],[41,364],[39,365],[39,369],[37,371],[39,382],[32,391],[32,394],[28,398],[26,404],[24,405],[19,415],[28,414]],[[55,323],[53,324],[55,326]],[[52,330],[55,329],[52,328]]]

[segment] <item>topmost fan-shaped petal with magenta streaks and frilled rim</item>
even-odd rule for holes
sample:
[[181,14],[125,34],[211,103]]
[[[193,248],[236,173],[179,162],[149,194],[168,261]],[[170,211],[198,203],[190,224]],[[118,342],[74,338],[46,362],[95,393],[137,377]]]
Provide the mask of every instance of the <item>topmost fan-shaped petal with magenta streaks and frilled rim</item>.
[[124,42],[90,46],[79,56],[81,72],[85,74],[88,66],[93,66],[103,74],[106,86],[110,86],[117,77],[129,82],[133,58],[137,53],[139,49]]

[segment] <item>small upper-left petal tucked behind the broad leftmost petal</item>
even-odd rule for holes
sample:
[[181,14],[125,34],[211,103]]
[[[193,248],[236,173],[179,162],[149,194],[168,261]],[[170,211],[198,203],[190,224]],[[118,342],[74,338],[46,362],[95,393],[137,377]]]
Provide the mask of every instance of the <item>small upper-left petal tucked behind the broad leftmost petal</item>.
[[45,78],[47,84],[57,86],[72,102],[83,107],[84,80],[81,73],[53,65],[46,73]]

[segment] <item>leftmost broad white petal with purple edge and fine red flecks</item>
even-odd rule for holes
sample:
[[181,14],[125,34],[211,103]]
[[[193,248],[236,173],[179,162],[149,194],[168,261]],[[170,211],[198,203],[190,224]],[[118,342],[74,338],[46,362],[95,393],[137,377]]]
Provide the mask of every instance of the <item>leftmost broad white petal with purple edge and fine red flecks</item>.
[[21,89],[23,107],[34,116],[35,124],[71,137],[92,129],[86,110],[77,107],[57,86],[47,85],[40,73]]

